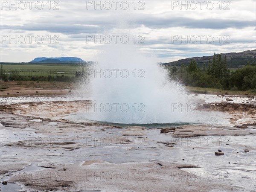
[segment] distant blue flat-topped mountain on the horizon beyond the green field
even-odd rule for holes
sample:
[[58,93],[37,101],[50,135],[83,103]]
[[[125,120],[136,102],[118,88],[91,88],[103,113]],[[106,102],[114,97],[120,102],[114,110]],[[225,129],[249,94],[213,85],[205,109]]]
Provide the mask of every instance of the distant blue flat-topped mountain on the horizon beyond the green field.
[[84,60],[78,57],[37,57],[30,61],[29,63],[70,63],[70,62],[79,62],[85,63]]

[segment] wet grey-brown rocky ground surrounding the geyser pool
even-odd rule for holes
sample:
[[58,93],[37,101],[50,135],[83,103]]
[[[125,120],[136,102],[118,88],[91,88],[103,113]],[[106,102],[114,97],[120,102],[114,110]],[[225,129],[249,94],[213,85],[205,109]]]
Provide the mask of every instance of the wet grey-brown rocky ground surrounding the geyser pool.
[[255,191],[256,105],[216,97],[198,110],[229,114],[229,126],[67,120],[88,100],[1,105],[0,189]]

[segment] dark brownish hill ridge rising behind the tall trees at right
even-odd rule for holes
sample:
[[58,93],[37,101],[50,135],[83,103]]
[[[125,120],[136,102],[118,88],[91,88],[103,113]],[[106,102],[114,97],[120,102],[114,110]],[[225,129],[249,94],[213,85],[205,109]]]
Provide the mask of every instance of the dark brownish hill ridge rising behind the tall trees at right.
[[[229,68],[239,68],[244,66],[247,61],[252,63],[253,61],[256,62],[256,49],[255,50],[248,50],[243,52],[230,52],[230,53],[221,53],[221,57],[227,57],[227,65]],[[192,58],[185,58],[180,59],[178,61],[173,61],[169,63],[164,63],[163,65],[176,65],[180,66],[182,63],[187,65],[189,62],[194,59],[198,65],[207,64],[209,59],[212,59],[212,56],[204,56],[204,57],[192,57]]]

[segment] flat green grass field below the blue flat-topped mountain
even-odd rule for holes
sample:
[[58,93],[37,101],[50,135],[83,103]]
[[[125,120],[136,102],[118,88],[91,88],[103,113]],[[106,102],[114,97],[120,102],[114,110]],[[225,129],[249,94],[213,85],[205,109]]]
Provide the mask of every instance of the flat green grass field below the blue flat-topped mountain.
[[75,76],[80,69],[77,64],[3,64],[4,73],[18,70],[20,76]]

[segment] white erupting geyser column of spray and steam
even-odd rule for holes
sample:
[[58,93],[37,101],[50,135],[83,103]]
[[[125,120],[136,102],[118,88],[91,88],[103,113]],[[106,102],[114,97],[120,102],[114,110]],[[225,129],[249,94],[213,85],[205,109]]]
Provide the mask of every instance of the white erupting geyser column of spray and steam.
[[128,37],[127,44],[103,45],[90,70],[93,104],[85,118],[125,124],[184,122],[186,113],[173,110],[186,103],[184,87],[169,81],[155,58],[140,53],[132,35]]

